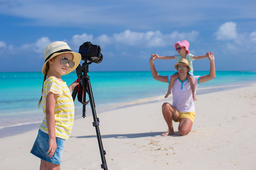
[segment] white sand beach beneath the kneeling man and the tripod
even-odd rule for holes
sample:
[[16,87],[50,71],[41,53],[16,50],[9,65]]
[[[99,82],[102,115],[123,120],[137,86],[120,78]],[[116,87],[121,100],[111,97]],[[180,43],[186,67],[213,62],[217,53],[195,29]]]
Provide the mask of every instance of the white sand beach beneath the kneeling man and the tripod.
[[[161,136],[168,130],[161,106],[172,98],[97,114],[108,170],[256,169],[255,87],[198,94],[187,136],[179,135],[178,122],[176,134]],[[92,116],[75,120],[62,170],[101,169],[92,121]],[[1,170],[39,169],[40,159],[30,153],[37,131],[0,138]]]

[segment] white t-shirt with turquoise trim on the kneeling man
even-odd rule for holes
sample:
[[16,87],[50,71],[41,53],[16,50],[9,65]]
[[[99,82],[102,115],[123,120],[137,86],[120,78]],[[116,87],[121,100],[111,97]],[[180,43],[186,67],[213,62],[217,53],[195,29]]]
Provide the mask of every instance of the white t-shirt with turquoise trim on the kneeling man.
[[[198,86],[199,77],[200,76],[193,76],[195,82],[195,93]],[[169,75],[167,78],[169,82],[171,75]],[[174,80],[172,86],[172,99],[172,106],[181,113],[195,112],[193,95],[188,78],[183,82],[179,78]]]

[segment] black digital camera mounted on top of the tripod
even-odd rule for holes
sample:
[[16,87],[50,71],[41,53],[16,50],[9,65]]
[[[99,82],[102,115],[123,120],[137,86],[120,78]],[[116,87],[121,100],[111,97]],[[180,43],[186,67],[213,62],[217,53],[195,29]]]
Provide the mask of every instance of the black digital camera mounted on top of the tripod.
[[81,60],[100,63],[103,59],[103,55],[100,53],[101,49],[98,45],[93,45],[91,42],[84,42],[79,48],[79,53],[81,54]]

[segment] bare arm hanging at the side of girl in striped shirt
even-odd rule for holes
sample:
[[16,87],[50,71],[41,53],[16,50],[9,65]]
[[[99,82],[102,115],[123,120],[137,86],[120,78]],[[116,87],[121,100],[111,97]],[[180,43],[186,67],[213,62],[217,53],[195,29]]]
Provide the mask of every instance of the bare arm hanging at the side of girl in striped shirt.
[[49,135],[49,157],[51,158],[54,154],[57,144],[56,144],[56,134],[55,134],[55,116],[54,116],[54,107],[55,107],[55,99],[57,94],[53,92],[48,92],[46,95],[46,108],[45,108],[45,115],[46,115],[46,123]]

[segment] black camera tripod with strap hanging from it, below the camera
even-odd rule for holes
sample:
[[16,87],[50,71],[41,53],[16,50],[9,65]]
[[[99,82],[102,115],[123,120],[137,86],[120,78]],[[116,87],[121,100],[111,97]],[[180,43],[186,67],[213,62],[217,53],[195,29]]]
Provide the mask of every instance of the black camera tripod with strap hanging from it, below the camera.
[[[79,81],[79,85],[77,85],[75,87],[75,89],[72,93],[72,97],[73,97],[73,100],[75,100],[76,94],[77,94],[77,100],[83,104],[82,117],[86,117],[85,116],[85,105],[88,104],[90,101],[91,108],[92,108],[92,116],[93,116],[93,121],[94,121],[94,122],[92,122],[92,125],[96,129],[96,134],[97,134],[97,139],[98,139],[98,144],[99,144],[99,149],[100,149],[100,156],[101,156],[101,161],[102,161],[101,168],[104,170],[108,170],[108,166],[107,166],[107,162],[106,162],[106,158],[105,158],[106,151],[104,151],[104,149],[103,149],[101,136],[100,136],[100,129],[99,129],[100,120],[99,120],[99,118],[97,118],[97,115],[96,115],[95,103],[94,103],[94,99],[93,99],[93,95],[92,95],[92,86],[91,86],[91,82],[90,82],[90,76],[87,75],[87,73],[89,72],[89,64],[91,64],[91,62],[89,62],[89,63],[84,62],[82,64],[82,66],[80,64],[77,66],[76,74],[77,74],[77,78]],[[88,101],[85,100],[86,93],[88,93],[88,96],[89,96]]]

